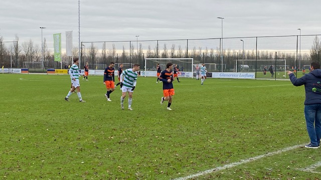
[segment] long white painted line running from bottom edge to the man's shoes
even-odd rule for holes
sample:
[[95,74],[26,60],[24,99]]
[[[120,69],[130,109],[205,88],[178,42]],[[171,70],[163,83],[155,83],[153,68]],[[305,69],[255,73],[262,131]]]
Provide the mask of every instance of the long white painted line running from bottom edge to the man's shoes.
[[219,166],[219,167],[215,167],[215,168],[212,168],[212,169],[204,170],[204,171],[201,171],[201,172],[196,173],[196,174],[188,175],[186,177],[178,177],[178,178],[175,178],[174,180],[185,180],[185,179],[189,179],[189,178],[205,175],[205,174],[208,174],[208,173],[216,172],[216,171],[219,171],[219,170],[232,168],[232,167],[235,167],[235,166],[243,164],[243,163],[251,162],[251,161],[266,157],[266,156],[272,156],[272,155],[275,155],[275,154],[279,154],[281,152],[285,152],[285,151],[292,150],[292,149],[295,149],[297,147],[302,147],[302,146],[304,146],[304,144],[299,144],[299,145],[294,145],[294,146],[291,146],[291,147],[286,147],[286,148],[283,148],[283,149],[280,149],[280,150],[277,150],[277,151],[274,151],[274,152],[269,152],[269,153],[266,153],[266,154],[263,154],[263,155],[258,155],[258,156],[255,156],[255,157],[242,159],[242,160],[240,160],[238,162],[233,162],[233,163],[226,164],[226,165],[223,165],[223,166]]

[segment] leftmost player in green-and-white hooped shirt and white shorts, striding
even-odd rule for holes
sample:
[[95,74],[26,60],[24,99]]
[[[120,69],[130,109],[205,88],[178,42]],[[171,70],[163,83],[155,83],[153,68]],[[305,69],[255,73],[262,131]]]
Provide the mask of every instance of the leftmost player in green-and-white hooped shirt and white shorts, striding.
[[72,87],[69,90],[67,96],[65,97],[65,100],[69,101],[69,96],[77,89],[77,95],[79,97],[79,102],[86,102],[85,100],[82,99],[81,93],[80,93],[80,84],[79,84],[79,76],[83,75],[82,73],[79,72],[79,58],[76,57],[74,58],[74,64],[69,69],[69,75],[70,78],[72,79]]

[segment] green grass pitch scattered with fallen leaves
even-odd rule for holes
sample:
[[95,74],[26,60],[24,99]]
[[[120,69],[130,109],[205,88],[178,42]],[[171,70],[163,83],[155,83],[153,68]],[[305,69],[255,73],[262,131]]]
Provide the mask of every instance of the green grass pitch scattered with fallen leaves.
[[[162,83],[138,77],[130,111],[102,80],[80,81],[80,103],[68,75],[0,74],[0,178],[173,179],[309,141],[290,81],[180,78],[169,111]],[[318,161],[295,148],[193,179],[319,179],[298,170]]]

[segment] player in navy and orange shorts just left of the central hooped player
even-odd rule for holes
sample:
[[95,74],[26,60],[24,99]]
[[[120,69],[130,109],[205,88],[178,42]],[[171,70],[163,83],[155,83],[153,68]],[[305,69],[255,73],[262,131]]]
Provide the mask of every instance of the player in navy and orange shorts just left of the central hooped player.
[[105,94],[105,97],[107,98],[107,101],[111,101],[109,98],[109,95],[112,91],[115,90],[115,69],[114,69],[114,62],[110,62],[109,66],[105,68],[104,71],[104,84],[107,88],[107,93]]

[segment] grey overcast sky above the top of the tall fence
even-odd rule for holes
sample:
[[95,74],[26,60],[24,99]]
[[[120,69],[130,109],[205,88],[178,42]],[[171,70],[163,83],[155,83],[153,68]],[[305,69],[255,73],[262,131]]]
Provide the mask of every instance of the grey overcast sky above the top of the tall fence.
[[[320,0],[80,0],[81,41],[187,39],[321,33]],[[48,47],[73,31],[78,0],[0,0],[0,35]],[[64,42],[63,42],[64,44]],[[64,45],[63,45],[64,46]]]

